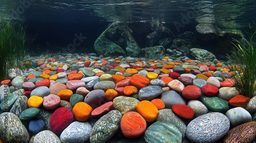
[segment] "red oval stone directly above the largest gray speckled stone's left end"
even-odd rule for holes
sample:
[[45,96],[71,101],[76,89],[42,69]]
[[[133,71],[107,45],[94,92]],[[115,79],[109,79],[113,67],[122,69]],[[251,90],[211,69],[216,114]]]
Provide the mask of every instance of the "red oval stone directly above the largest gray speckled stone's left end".
[[173,105],[172,110],[178,116],[186,119],[190,119],[194,116],[194,110],[187,105],[176,104],[176,105]]

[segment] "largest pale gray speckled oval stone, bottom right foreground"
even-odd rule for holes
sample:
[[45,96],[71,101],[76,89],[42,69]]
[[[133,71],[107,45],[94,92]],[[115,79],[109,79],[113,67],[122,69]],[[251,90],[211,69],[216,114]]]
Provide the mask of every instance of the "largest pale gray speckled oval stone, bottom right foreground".
[[192,142],[216,142],[229,130],[228,118],[220,112],[201,115],[191,121],[186,128],[186,137]]

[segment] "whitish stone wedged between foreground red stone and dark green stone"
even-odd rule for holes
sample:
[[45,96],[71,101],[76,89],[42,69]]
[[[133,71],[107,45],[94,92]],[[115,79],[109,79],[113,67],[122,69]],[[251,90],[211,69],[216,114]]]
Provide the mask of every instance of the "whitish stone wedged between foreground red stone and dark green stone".
[[195,117],[208,113],[208,108],[201,101],[190,100],[187,103],[187,106],[191,107],[194,110]]

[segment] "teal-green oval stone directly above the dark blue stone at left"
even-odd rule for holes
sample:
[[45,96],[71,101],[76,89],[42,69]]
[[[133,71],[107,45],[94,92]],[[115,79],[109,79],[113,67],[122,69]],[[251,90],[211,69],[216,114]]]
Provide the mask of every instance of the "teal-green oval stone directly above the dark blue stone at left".
[[20,115],[19,115],[19,120],[20,121],[29,121],[32,118],[35,118],[39,115],[40,110],[38,108],[32,107],[24,110]]

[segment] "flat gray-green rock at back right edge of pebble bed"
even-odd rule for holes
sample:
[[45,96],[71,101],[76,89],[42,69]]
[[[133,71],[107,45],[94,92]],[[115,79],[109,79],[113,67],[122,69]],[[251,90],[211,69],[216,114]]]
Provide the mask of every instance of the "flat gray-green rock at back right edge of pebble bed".
[[196,60],[200,61],[212,61],[216,58],[214,54],[207,50],[198,49],[198,48],[192,48],[189,50],[190,55],[195,57]]

